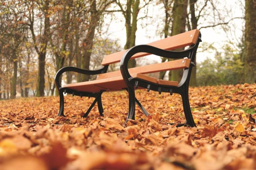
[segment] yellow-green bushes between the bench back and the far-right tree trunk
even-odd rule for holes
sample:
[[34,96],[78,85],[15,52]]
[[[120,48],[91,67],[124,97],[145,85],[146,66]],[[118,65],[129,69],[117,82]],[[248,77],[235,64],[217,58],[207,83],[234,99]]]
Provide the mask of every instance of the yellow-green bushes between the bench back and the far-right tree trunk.
[[219,52],[219,49],[211,46],[215,51],[214,58],[207,57],[205,61],[198,64],[197,82],[200,86],[238,84],[241,83],[243,63],[238,50],[226,44]]

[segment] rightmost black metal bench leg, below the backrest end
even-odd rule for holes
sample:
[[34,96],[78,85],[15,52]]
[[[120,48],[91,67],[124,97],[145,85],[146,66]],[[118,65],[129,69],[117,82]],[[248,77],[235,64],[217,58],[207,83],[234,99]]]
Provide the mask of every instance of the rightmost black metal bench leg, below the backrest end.
[[190,105],[189,105],[188,89],[182,91],[181,97],[182,97],[184,114],[187,120],[186,124],[188,124],[191,127],[196,127],[196,124],[194,122],[194,119],[191,113]]

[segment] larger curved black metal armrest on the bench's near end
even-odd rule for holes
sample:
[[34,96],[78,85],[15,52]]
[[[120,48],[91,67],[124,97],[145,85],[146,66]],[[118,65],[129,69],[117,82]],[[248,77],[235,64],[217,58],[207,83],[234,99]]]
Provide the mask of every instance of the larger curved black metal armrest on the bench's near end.
[[139,52],[147,52],[161,57],[179,59],[189,57],[192,51],[193,46],[183,51],[169,51],[150,45],[136,45],[127,50],[126,53],[123,55],[120,63],[120,71],[122,73],[123,79],[125,81],[128,81],[129,78],[131,78],[131,75],[128,71],[128,61],[134,54]]

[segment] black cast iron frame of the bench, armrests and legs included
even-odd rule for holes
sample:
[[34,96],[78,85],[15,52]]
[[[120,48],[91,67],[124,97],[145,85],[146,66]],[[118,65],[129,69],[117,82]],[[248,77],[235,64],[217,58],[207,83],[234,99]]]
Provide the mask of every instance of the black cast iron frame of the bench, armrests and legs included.
[[[190,127],[196,127],[196,124],[194,122],[191,109],[190,109],[190,104],[189,104],[189,98],[188,98],[188,87],[189,87],[189,80],[190,80],[190,75],[192,68],[194,66],[194,59],[196,55],[196,50],[199,45],[199,42],[201,42],[201,33],[199,33],[199,36],[197,38],[197,41],[194,45],[191,45],[188,49],[183,50],[183,51],[168,51],[168,50],[163,50],[157,47],[153,47],[150,45],[136,45],[129,50],[126,51],[126,53],[123,55],[121,62],[120,62],[120,70],[123,76],[123,79],[125,81],[125,84],[127,88],[125,90],[128,91],[129,93],[129,110],[128,110],[128,116],[126,119],[126,123],[128,119],[133,119],[135,120],[135,103],[140,107],[142,112],[148,116],[148,112],[146,109],[143,108],[143,106],[140,104],[140,102],[137,100],[135,97],[135,90],[134,87],[137,88],[143,87],[146,88],[147,91],[153,90],[159,92],[161,94],[162,92],[168,92],[170,95],[173,93],[177,93],[181,95],[182,98],[182,104],[183,104],[183,110],[186,118],[186,122],[184,124],[180,125],[189,125]],[[188,68],[184,69],[183,76],[181,81],[179,82],[179,85],[177,87],[175,86],[166,86],[166,85],[160,85],[156,83],[152,83],[146,80],[134,78],[130,75],[128,71],[128,61],[129,59],[136,53],[138,52],[146,52],[150,54],[155,54],[158,56],[166,57],[166,58],[172,58],[172,59],[180,59],[187,57],[190,59],[190,64]],[[100,116],[103,115],[103,107],[102,107],[102,101],[101,101],[101,95],[104,92],[100,91],[98,93],[90,93],[90,92],[80,92],[76,90],[72,90],[69,88],[64,88],[61,87],[60,84],[60,78],[61,75],[64,72],[67,71],[73,71],[81,74],[87,74],[87,75],[96,75],[96,74],[103,74],[106,73],[108,69],[108,65],[105,65],[103,68],[98,69],[98,70],[84,70],[76,67],[63,67],[61,68],[55,75],[55,85],[57,87],[57,90],[59,90],[59,97],[60,97],[60,110],[58,116],[65,116],[64,115],[64,95],[63,93],[69,93],[72,94],[73,96],[80,96],[80,97],[94,97],[94,101],[85,113],[83,117],[87,117],[93,106],[98,103],[98,110],[100,113]],[[86,90],[84,90],[86,91]],[[178,126],[180,126],[178,125]]]

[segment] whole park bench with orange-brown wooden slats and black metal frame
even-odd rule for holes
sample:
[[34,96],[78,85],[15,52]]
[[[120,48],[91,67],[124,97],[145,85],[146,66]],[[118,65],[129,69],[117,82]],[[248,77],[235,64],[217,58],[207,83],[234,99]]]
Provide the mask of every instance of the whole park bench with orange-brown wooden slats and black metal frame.
[[[95,100],[85,113],[87,117],[93,106],[97,103],[100,116],[103,116],[103,107],[101,102],[101,95],[106,91],[127,90],[129,94],[129,110],[126,122],[128,119],[135,119],[135,103],[140,107],[142,112],[148,116],[148,112],[143,108],[140,102],[135,97],[135,89],[147,89],[159,92],[168,92],[170,95],[178,93],[182,97],[182,104],[186,118],[186,125],[196,127],[193,120],[189,98],[188,87],[191,75],[191,70],[194,66],[194,59],[196,50],[201,42],[201,34],[199,30],[192,30],[186,33],[165,38],[147,45],[136,45],[128,50],[123,50],[113,54],[104,56],[102,61],[103,68],[98,70],[84,70],[76,67],[63,67],[55,76],[56,89],[59,90],[60,110],[58,116],[64,115],[64,96],[63,93],[69,93],[73,96],[94,97]],[[182,51],[173,51],[174,49],[189,46]],[[171,51],[172,50],[172,51]],[[156,63],[135,68],[127,68],[130,59],[155,54],[158,56],[172,58],[163,63]],[[120,62],[120,70],[107,72],[109,64]],[[156,78],[147,76],[145,74],[183,69],[183,76],[180,82],[158,80]],[[73,71],[81,74],[98,75],[96,80],[87,82],[78,82],[66,84],[61,87],[60,77],[66,71]],[[183,125],[185,125],[183,124]]]

